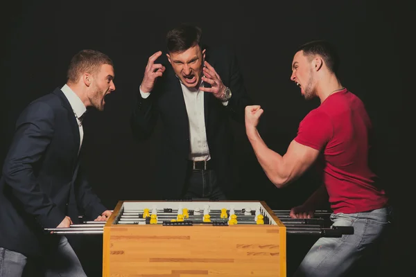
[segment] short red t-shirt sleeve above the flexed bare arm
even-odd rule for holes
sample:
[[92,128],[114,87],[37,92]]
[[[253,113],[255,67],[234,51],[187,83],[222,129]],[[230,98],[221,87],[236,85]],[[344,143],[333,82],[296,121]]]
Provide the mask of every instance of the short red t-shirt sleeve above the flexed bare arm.
[[295,141],[315,150],[322,150],[332,134],[333,127],[329,116],[313,110],[300,122]]

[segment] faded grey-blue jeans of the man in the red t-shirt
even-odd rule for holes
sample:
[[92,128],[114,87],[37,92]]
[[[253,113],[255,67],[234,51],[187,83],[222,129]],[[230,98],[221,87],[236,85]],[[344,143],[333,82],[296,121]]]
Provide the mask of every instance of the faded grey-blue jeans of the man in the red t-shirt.
[[354,226],[354,234],[319,238],[306,253],[294,276],[345,276],[363,254],[381,240],[391,224],[390,216],[391,208],[331,214],[333,226]]

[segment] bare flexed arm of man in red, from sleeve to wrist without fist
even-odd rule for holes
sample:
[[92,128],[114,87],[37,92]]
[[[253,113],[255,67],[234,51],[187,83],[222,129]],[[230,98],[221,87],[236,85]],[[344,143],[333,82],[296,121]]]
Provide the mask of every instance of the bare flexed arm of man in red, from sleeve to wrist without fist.
[[318,150],[296,141],[292,141],[286,154],[281,156],[268,148],[256,128],[248,130],[248,139],[261,167],[277,188],[300,177],[319,156]]

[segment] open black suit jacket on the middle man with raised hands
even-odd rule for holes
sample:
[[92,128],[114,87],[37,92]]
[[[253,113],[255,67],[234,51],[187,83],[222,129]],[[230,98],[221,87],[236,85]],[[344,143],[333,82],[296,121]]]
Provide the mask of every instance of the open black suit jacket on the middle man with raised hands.
[[[251,100],[234,53],[228,48],[207,48],[206,60],[214,67],[232,98],[224,106],[212,93],[205,92],[205,127],[211,161],[218,176],[218,184],[231,198],[233,134],[229,118],[243,123],[244,109]],[[132,132],[138,140],[147,139],[160,117],[163,124],[162,145],[157,159],[155,186],[162,199],[179,199],[182,194],[189,159],[189,120],[180,80],[166,58],[159,61],[166,66],[153,91],[146,99],[137,93],[132,113]]]

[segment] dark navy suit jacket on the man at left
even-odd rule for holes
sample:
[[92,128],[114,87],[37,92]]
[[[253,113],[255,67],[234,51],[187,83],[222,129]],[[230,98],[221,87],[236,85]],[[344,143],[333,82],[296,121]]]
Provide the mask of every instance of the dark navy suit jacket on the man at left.
[[58,238],[44,228],[56,228],[65,215],[76,223],[78,213],[94,218],[106,210],[81,174],[79,145],[78,123],[60,89],[24,109],[0,179],[0,247],[40,255]]

